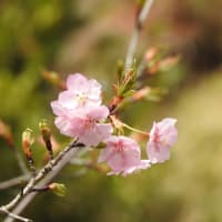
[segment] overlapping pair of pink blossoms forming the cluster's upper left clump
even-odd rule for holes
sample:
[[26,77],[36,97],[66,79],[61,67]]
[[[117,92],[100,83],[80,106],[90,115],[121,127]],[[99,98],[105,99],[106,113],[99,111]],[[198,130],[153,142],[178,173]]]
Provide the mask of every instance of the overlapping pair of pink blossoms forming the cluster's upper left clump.
[[95,80],[70,74],[67,90],[51,102],[51,107],[60,132],[78,138],[85,145],[98,145],[112,133],[112,125],[101,122],[108,118],[109,109],[101,105],[101,85]]

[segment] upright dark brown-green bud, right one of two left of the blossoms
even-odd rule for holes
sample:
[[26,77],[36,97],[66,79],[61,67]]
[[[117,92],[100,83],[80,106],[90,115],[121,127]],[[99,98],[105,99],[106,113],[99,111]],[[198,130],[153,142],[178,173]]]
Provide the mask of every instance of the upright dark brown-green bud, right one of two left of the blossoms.
[[46,120],[42,120],[39,123],[39,129],[41,131],[42,139],[43,139],[46,148],[49,152],[50,159],[52,160],[53,159],[53,151],[52,151],[52,143],[51,143],[51,130],[50,130]]

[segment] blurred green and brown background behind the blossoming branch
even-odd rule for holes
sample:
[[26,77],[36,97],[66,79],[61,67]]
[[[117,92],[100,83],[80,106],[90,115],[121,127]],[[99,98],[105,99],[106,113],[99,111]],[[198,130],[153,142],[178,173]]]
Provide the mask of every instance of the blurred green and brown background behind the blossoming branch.
[[[172,69],[151,84],[168,89],[161,102],[141,102],[122,118],[149,130],[153,120],[178,118],[172,158],[128,178],[90,170],[77,176],[68,167],[64,199],[40,194],[24,211],[34,221],[221,222],[222,221],[222,1],[157,0],[138,47],[163,47],[180,54]],[[117,61],[124,60],[134,21],[134,0],[2,0],[0,3],[0,118],[20,149],[23,129],[38,132],[59,90],[41,75],[82,72],[111,94]],[[58,134],[57,129],[53,132]],[[59,141],[67,141],[58,134]],[[36,158],[42,153],[37,148]],[[17,162],[0,141],[0,179],[19,175]],[[0,191],[7,203],[18,188]]]

